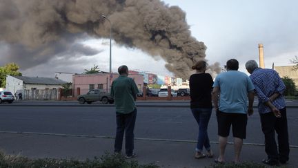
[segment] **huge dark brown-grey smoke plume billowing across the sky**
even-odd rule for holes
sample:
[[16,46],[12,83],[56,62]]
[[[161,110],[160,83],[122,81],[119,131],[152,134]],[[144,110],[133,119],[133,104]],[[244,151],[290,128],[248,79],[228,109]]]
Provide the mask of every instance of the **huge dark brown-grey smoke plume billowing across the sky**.
[[[191,36],[186,14],[159,0],[0,0],[0,41],[10,60],[30,60],[21,66],[47,62],[52,55],[74,52],[95,55],[101,50],[76,46],[84,33],[109,38],[149,55],[160,55],[166,68],[187,79],[190,67],[205,59],[206,46]],[[32,66],[32,65],[31,65]],[[210,71],[219,72],[218,64]]]

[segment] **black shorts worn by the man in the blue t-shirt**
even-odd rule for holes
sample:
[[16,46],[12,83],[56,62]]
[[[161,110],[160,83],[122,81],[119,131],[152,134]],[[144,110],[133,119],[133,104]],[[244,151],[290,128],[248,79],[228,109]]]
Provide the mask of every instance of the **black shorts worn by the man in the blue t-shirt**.
[[247,120],[246,114],[217,111],[218,135],[228,137],[230,134],[230,126],[232,125],[233,137],[245,139]]

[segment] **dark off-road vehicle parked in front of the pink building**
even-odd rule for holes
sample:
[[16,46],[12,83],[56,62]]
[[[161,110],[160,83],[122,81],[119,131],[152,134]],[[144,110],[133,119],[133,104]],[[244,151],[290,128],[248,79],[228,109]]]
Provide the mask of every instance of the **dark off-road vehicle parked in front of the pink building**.
[[96,101],[101,101],[102,104],[112,104],[114,102],[114,99],[112,96],[110,96],[110,93],[106,93],[105,91],[99,89],[89,91],[84,95],[79,95],[77,100],[79,101],[79,104],[84,104],[85,102],[91,104],[92,102]]

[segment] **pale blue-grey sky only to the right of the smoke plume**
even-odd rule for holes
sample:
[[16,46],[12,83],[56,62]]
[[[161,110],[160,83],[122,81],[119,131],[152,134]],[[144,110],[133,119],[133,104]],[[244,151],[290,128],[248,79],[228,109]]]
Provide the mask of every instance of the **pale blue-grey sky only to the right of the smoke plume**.
[[265,66],[290,65],[298,55],[298,1],[181,1],[167,0],[186,11],[192,35],[208,47],[210,62],[224,65],[239,60],[246,71],[248,59],[258,59],[258,44],[264,44]]

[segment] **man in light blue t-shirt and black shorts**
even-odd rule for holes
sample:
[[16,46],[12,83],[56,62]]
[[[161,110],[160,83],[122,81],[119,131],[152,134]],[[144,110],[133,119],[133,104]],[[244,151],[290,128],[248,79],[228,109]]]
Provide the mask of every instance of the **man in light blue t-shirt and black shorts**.
[[225,161],[224,151],[232,125],[235,147],[234,162],[239,163],[243,139],[246,138],[247,114],[252,115],[253,113],[255,86],[248,75],[238,71],[237,59],[228,60],[226,66],[227,72],[217,75],[212,91],[212,101],[214,109],[217,111],[219,135],[219,157],[215,162]]

